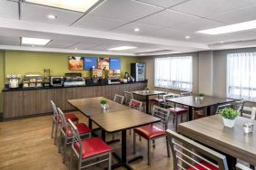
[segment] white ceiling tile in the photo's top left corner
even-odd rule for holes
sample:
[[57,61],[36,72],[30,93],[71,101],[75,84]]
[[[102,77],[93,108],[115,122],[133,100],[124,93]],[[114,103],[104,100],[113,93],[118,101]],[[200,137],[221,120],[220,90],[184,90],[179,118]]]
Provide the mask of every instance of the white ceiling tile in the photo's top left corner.
[[19,19],[18,3],[12,1],[0,1],[0,16]]

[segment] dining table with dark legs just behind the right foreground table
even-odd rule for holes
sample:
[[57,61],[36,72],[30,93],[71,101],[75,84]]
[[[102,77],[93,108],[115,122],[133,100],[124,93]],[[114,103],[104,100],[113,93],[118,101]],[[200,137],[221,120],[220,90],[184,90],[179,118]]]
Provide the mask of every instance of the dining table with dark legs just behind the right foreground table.
[[234,99],[219,98],[214,96],[183,96],[179,98],[167,99],[174,104],[180,104],[189,108],[189,120],[192,120],[192,109],[203,109],[207,108],[207,116],[211,115],[211,107],[218,106],[220,104],[230,103]]

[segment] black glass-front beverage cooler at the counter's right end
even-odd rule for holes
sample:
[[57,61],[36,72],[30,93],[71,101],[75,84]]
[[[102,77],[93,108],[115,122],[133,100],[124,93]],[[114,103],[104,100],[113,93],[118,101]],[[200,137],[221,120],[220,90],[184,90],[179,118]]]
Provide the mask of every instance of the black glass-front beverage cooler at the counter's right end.
[[145,63],[131,63],[131,76],[134,78],[135,81],[145,80],[145,71]]

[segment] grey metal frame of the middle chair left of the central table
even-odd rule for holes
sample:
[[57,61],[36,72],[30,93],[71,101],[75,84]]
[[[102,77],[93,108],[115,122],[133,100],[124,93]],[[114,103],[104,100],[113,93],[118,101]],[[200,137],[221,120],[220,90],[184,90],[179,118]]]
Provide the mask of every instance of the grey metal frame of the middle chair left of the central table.
[[[67,135],[67,129],[68,127],[70,127],[69,123],[65,121],[65,118],[64,118],[64,113],[61,109],[57,109],[58,112],[59,112],[59,115],[62,119],[62,126],[61,126],[61,130],[60,130],[60,144],[59,144],[59,148],[58,148],[58,152],[60,153],[61,152],[61,147],[63,146],[63,143],[62,143],[62,139],[64,138],[64,157],[63,157],[63,163],[65,163],[65,157],[66,157],[66,146],[68,144],[71,144],[72,143],[72,138],[73,137],[68,137]],[[64,131],[64,129],[65,131]],[[80,137],[92,137],[92,133],[89,132],[89,133],[84,133],[83,135],[80,135]]]

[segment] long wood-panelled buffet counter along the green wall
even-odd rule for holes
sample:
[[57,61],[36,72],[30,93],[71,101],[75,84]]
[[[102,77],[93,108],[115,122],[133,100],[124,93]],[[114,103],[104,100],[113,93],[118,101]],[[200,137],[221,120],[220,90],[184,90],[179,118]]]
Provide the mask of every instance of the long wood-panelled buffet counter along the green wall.
[[79,87],[16,88],[3,90],[4,119],[24,118],[52,112],[50,100],[63,110],[74,109],[68,99],[83,99],[103,96],[113,99],[123,91],[144,90],[147,81],[120,84],[92,84]]

